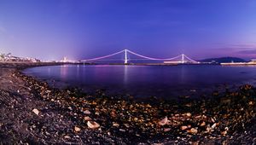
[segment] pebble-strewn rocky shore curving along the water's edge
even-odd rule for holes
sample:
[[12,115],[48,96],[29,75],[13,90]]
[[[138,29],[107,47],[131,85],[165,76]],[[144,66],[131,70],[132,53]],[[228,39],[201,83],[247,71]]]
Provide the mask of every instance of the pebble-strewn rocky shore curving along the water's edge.
[[136,101],[58,90],[16,67],[0,67],[3,144],[253,144],[256,89],[244,85],[201,100]]

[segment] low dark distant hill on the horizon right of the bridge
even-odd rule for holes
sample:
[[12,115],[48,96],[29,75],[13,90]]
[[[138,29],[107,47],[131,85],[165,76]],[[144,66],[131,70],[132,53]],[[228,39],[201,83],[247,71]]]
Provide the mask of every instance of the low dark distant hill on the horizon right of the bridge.
[[210,58],[201,60],[201,62],[216,62],[216,63],[224,63],[224,62],[246,62],[245,60],[237,57],[219,57],[219,58]]

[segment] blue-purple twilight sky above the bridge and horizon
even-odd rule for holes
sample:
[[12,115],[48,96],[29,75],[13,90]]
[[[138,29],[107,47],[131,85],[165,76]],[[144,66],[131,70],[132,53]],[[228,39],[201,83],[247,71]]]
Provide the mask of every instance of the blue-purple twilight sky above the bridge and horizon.
[[256,0],[0,0],[0,53],[256,58]]

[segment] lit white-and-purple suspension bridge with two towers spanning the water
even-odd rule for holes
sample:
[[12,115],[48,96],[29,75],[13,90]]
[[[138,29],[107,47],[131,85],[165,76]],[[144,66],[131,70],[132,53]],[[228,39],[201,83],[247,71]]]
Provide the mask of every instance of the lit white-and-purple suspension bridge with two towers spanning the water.
[[[121,59],[109,59],[113,57],[114,55],[122,55],[123,58]],[[131,58],[131,55],[137,56],[137,58]],[[195,63],[200,63],[199,61],[192,60],[189,58],[187,55],[181,54],[177,55],[172,58],[154,58],[154,57],[149,57],[146,55],[140,55],[137,54],[129,49],[123,49],[119,52],[115,52],[110,55],[104,55],[96,58],[91,58],[87,60],[81,60],[82,62],[95,62],[95,61],[123,61],[124,64],[128,64],[129,62],[132,61],[164,61],[164,63],[177,63],[177,64],[195,64]]]

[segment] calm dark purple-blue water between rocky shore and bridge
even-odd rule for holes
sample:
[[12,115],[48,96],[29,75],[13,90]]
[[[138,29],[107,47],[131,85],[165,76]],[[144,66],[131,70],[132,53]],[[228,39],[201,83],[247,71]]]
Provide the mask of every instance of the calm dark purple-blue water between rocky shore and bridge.
[[105,89],[110,95],[198,96],[241,84],[256,84],[256,67],[181,66],[53,66],[25,70],[59,88]]

